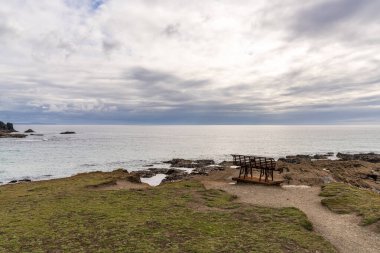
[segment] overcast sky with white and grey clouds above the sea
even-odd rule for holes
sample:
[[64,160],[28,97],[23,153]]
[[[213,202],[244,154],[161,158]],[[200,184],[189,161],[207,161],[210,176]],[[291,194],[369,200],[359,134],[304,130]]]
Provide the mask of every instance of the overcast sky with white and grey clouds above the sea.
[[379,124],[380,0],[1,0],[0,120]]

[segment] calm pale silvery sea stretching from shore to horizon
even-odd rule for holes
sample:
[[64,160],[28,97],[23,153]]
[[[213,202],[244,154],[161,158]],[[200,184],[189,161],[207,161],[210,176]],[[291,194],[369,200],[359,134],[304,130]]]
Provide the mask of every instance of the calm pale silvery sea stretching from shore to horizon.
[[[172,158],[216,161],[230,154],[380,152],[380,126],[16,125],[44,136],[0,139],[0,182],[115,168],[142,169]],[[75,135],[60,135],[66,130]]]

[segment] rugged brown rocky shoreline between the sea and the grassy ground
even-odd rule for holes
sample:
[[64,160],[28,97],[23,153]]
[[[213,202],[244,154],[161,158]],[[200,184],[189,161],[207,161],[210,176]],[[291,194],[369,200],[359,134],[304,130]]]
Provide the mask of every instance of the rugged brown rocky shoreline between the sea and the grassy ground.
[[[344,182],[357,187],[372,189],[380,193],[380,154],[343,154],[338,160],[330,160],[327,155],[294,155],[277,161],[275,176],[291,185],[323,185],[330,182]],[[319,159],[318,159],[319,158]],[[131,173],[139,178],[152,178],[164,174],[162,183],[186,180],[196,176],[209,176],[218,172],[237,175],[237,166],[232,161],[216,163],[212,159],[190,160],[175,158],[163,161],[169,168],[153,167],[148,164],[144,169]],[[231,176],[232,177],[232,176]],[[8,183],[30,182],[31,180],[12,180]]]

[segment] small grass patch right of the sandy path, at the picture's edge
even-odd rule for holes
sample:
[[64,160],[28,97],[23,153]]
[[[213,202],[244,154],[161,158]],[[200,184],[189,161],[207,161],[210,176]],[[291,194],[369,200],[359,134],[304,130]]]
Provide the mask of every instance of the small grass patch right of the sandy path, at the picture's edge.
[[322,200],[322,204],[333,212],[357,213],[362,216],[361,225],[380,221],[380,194],[378,193],[343,183],[331,183],[322,187],[320,195],[326,197]]

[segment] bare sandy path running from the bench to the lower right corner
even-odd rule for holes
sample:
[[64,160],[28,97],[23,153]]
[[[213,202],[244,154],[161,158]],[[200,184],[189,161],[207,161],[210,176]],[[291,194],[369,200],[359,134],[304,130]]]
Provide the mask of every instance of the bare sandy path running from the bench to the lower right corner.
[[226,181],[203,181],[206,188],[225,190],[238,201],[270,207],[293,206],[302,210],[314,229],[342,253],[379,253],[380,235],[358,225],[354,215],[335,214],[321,205],[320,187],[281,188],[260,185],[231,185]]

